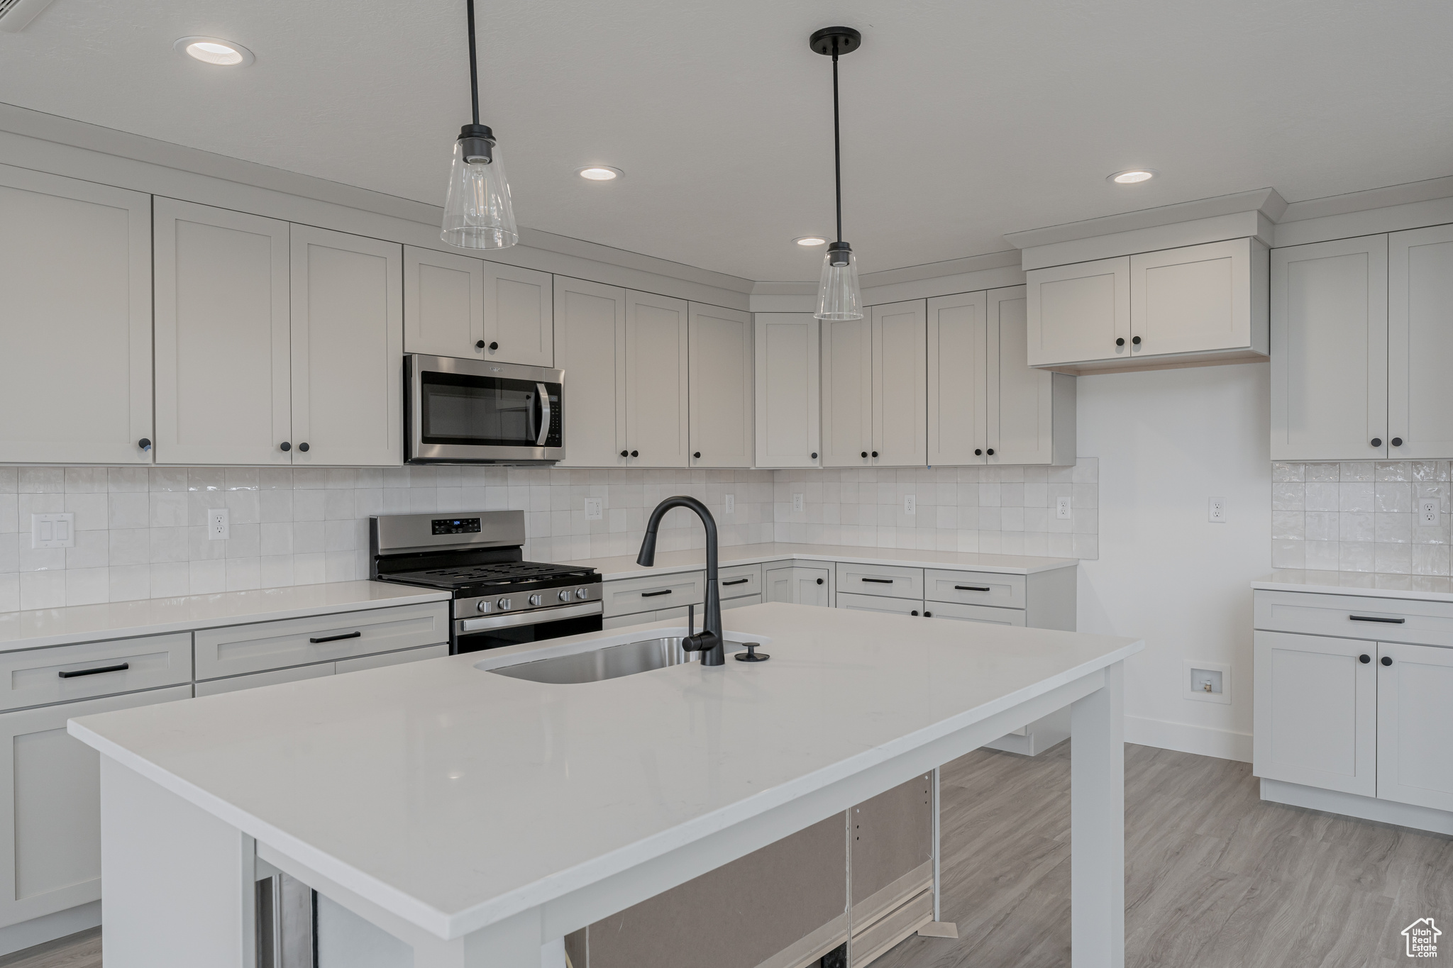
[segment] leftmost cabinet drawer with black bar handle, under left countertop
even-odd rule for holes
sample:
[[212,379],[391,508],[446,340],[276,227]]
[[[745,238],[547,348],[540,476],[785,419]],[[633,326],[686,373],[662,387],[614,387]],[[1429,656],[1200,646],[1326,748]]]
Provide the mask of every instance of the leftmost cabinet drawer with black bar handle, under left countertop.
[[0,653],[0,710],[192,681],[192,633]]

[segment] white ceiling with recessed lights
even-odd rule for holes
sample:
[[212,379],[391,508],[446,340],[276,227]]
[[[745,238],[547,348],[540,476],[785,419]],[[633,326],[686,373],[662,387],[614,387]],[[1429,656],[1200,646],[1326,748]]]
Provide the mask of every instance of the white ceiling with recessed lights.
[[[1007,248],[1004,232],[1258,187],[1453,174],[1446,0],[477,0],[482,120],[520,225],[756,280]],[[173,52],[248,46],[240,70]],[[469,120],[461,0],[55,0],[0,33],[0,100],[442,203]],[[586,183],[578,165],[625,170]],[[1106,176],[1159,170],[1141,186]],[[105,173],[97,173],[105,181]]]

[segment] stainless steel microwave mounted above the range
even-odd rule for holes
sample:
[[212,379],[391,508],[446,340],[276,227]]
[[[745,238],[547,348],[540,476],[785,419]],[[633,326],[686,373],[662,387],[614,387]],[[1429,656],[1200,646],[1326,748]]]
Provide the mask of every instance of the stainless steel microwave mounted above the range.
[[404,356],[404,460],[552,464],[565,456],[565,372]]

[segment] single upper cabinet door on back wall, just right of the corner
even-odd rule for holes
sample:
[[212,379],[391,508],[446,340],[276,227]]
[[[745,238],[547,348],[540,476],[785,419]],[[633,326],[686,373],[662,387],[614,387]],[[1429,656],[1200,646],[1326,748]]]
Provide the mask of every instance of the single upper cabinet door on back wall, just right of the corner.
[[821,447],[818,319],[756,313],[757,467],[817,467]]

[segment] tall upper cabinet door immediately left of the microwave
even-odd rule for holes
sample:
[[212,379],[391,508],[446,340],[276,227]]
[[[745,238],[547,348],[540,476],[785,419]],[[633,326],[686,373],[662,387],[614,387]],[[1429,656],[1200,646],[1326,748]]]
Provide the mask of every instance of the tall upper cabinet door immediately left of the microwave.
[[292,463],[404,462],[402,260],[395,242],[292,226]]

